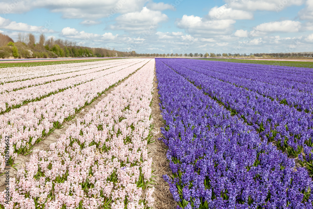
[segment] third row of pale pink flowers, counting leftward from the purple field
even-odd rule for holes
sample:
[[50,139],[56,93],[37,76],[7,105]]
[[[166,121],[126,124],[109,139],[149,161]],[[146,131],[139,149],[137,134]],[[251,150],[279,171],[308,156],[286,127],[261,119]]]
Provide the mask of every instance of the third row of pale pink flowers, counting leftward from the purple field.
[[[136,60],[136,62],[141,62],[142,60]],[[135,63],[136,63],[135,62]],[[69,87],[74,87],[75,85],[80,85],[82,83],[97,79],[99,77],[108,75],[116,70],[121,70],[123,68],[133,65],[133,62],[127,62],[126,64],[116,64],[109,67],[109,69],[104,70],[103,67],[99,67],[98,72],[90,72],[86,75],[71,77],[68,79],[62,79],[60,81],[54,81],[47,84],[32,86],[29,88],[20,89],[18,91],[4,92],[0,94],[0,112],[6,111],[8,108],[22,105],[25,101],[33,101],[40,99],[40,97],[49,96],[52,92],[58,92],[60,89],[65,89]],[[103,71],[100,71],[100,70]]]

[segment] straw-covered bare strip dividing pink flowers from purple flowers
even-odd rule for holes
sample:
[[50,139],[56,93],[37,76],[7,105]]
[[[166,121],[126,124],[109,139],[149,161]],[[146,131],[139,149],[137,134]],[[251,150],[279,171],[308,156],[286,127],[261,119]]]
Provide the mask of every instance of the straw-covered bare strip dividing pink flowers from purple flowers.
[[152,102],[152,118],[154,129],[152,131],[153,138],[151,141],[155,141],[148,145],[148,157],[152,157],[152,169],[153,172],[152,180],[154,180],[154,193],[155,198],[154,209],[176,209],[176,202],[173,199],[173,196],[169,190],[169,185],[164,181],[162,175],[171,175],[172,171],[169,167],[169,162],[166,158],[167,146],[159,141],[158,138],[162,137],[160,133],[160,127],[163,126],[163,118],[161,115],[161,110],[159,106],[160,98],[157,90],[157,79],[154,76],[153,81],[153,102]]

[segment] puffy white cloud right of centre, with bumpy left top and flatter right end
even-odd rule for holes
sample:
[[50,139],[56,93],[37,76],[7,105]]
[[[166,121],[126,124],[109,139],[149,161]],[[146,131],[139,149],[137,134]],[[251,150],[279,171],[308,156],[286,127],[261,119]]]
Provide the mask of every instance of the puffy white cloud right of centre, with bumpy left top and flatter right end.
[[205,33],[210,33],[211,31],[209,30],[229,29],[234,23],[236,23],[235,20],[205,20],[194,15],[184,15],[182,19],[178,21],[177,26],[189,31],[203,31]]

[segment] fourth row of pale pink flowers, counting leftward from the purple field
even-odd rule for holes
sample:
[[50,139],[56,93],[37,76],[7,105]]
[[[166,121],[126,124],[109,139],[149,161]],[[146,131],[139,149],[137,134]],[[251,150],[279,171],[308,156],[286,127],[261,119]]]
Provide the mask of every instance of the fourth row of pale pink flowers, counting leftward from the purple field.
[[[23,80],[23,81],[14,81],[10,83],[3,83],[0,85],[0,93],[3,92],[9,92],[13,90],[17,90],[20,88],[25,88],[25,87],[30,87],[30,86],[36,86],[36,85],[41,85],[47,82],[52,82],[52,81],[57,81],[57,80],[62,80],[66,78],[71,78],[75,76],[81,76],[84,74],[104,70],[106,68],[110,68],[113,66],[120,65],[121,63],[126,63],[130,62],[130,60],[112,60],[112,61],[107,61],[104,63],[97,63],[93,65],[84,65],[84,66],[75,66],[72,68],[69,68],[67,71],[61,71],[60,74],[56,74],[53,76],[45,76],[45,77],[40,77],[40,78],[32,78],[28,80]],[[41,66],[41,69],[38,70],[39,74],[44,73],[46,71],[47,66]]]

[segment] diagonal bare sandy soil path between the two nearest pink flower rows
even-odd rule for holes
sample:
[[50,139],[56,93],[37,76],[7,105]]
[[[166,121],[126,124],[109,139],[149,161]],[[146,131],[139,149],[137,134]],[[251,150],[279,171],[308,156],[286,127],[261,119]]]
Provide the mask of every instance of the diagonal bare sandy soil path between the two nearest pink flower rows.
[[[137,72],[137,71],[138,71],[138,69],[135,72]],[[133,75],[134,73],[132,73],[131,75]],[[105,91],[105,93],[103,93],[100,97],[98,97],[94,102],[92,102],[90,105],[87,105],[86,107],[84,107],[84,111],[83,112],[77,113],[72,120],[65,122],[63,124],[63,128],[55,129],[51,134],[46,136],[41,142],[36,144],[36,146],[34,146],[33,149],[31,149],[30,151],[34,151],[36,149],[39,149],[39,150],[49,150],[50,149],[50,144],[57,142],[58,139],[60,138],[61,134],[65,134],[66,129],[69,128],[70,125],[72,125],[73,123],[76,123],[78,118],[83,118],[102,99],[104,99],[108,94],[110,94],[110,92],[113,91],[115,89],[115,87],[117,87],[117,86],[121,85],[122,83],[124,83],[124,81],[126,81],[129,77],[131,77],[131,75],[126,77],[123,81],[120,81],[116,86],[113,86],[113,87],[109,88],[107,91]],[[18,170],[23,168],[26,165],[26,163],[29,162],[29,159],[30,159],[31,155],[32,154],[28,154],[26,156],[23,155],[23,154],[18,155],[18,157],[14,160],[14,164],[18,163],[18,165],[15,166],[15,168],[17,170],[15,170],[11,166],[6,166],[6,169],[7,168],[10,169],[9,170],[10,178],[15,178],[17,176]],[[4,185],[5,184],[5,178],[6,178],[5,175],[0,176],[0,191],[4,191],[4,189],[5,189],[5,185]]]

